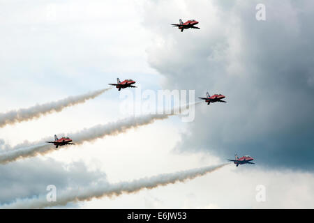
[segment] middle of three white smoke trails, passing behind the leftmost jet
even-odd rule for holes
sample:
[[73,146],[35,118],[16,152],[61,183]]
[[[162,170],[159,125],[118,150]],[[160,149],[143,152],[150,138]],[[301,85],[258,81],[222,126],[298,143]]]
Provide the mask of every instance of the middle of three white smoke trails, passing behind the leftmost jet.
[[[196,103],[198,104],[198,103]],[[189,107],[190,105],[188,105]],[[181,112],[188,107],[181,107]],[[173,112],[172,112],[173,113]],[[105,125],[96,125],[91,128],[85,128],[80,132],[67,134],[73,139],[75,144],[83,144],[85,141],[94,141],[99,138],[103,138],[107,135],[115,135],[122,132],[126,132],[131,128],[137,128],[142,125],[148,125],[156,120],[162,120],[172,116],[173,114],[148,114],[144,116],[133,116],[130,118],[125,118],[117,122],[107,123]],[[61,134],[59,134],[61,135]],[[0,164],[5,164],[7,162],[13,162],[26,157],[33,157],[36,155],[43,155],[56,151],[59,148],[55,148],[52,144],[45,144],[44,141],[50,141],[51,137],[46,137],[40,141],[33,143],[26,142],[24,144],[19,144],[13,148],[6,149],[5,152],[0,153]],[[8,147],[8,146],[7,146]],[[64,147],[63,147],[64,148]]]

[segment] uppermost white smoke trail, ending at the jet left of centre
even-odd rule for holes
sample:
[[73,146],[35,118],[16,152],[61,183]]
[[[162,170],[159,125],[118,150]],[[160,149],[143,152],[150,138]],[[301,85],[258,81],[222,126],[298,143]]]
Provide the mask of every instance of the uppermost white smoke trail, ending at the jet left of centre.
[[90,93],[84,93],[82,95],[70,96],[56,102],[49,102],[43,105],[35,105],[27,109],[18,109],[17,111],[2,113],[0,114],[0,128],[13,123],[29,121],[33,118],[38,118],[52,112],[61,112],[66,107],[84,103],[86,100],[96,98],[98,95],[104,93],[109,89],[112,88],[101,89]]

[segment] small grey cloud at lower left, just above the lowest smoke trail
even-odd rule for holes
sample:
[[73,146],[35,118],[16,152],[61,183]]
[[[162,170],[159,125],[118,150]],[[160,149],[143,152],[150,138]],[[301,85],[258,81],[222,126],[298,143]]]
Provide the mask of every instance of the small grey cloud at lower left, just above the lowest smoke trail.
[[22,160],[0,166],[0,203],[10,203],[17,198],[37,197],[47,194],[47,185],[59,190],[104,183],[107,177],[101,171],[89,171],[83,162],[63,164],[51,158]]

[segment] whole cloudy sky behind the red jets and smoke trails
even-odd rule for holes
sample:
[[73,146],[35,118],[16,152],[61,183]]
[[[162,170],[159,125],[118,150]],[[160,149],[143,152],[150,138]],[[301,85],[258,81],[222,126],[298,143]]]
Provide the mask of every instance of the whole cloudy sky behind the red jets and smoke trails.
[[[256,20],[257,3],[266,21]],[[179,18],[201,29],[181,33],[170,26]],[[313,208],[313,19],[310,0],[0,0],[1,113],[103,89],[117,77],[142,90],[227,100],[195,106],[192,122],[172,116],[1,164],[0,202],[36,198],[47,185],[66,191],[221,164],[238,153],[256,164],[59,208]],[[0,148],[119,121],[131,115],[122,104],[114,89],[6,125]],[[257,201],[258,185],[266,201]]]

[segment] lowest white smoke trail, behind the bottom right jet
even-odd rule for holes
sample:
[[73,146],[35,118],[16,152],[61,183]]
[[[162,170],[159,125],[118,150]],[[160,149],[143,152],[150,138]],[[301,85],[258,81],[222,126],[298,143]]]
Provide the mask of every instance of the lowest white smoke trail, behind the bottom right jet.
[[3,204],[0,208],[46,208],[52,206],[65,206],[69,202],[90,201],[101,197],[119,196],[121,194],[131,194],[144,189],[154,189],[155,187],[166,186],[177,182],[192,180],[198,176],[203,176],[212,171],[216,171],[227,164],[218,166],[202,167],[179,171],[171,174],[160,174],[149,178],[141,178],[130,182],[121,182],[105,185],[96,185],[81,190],[63,191],[57,194],[57,201],[48,202],[45,195],[35,199],[16,199],[15,202]]

